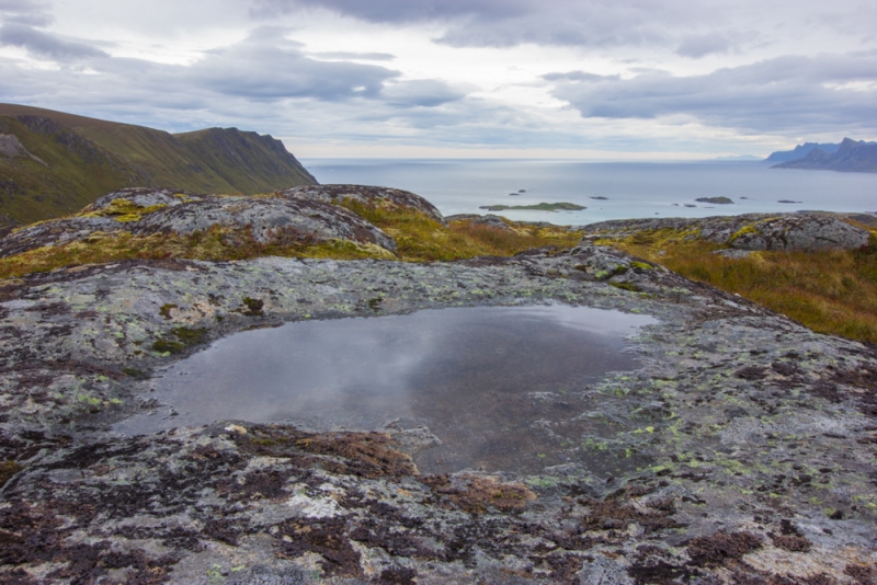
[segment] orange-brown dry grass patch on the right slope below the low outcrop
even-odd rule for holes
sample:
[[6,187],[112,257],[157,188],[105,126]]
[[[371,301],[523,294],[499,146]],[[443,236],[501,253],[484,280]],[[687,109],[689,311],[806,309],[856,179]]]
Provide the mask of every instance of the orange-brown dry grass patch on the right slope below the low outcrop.
[[874,233],[863,250],[756,252],[737,260],[709,253],[719,245],[685,241],[670,232],[640,233],[605,243],[693,280],[737,292],[813,331],[877,343]]

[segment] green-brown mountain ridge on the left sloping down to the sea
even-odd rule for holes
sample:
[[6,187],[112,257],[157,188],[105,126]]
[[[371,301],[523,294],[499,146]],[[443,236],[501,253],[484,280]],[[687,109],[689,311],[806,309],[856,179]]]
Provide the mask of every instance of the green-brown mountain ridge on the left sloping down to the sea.
[[172,135],[0,104],[0,225],[76,211],[126,186],[251,195],[316,183],[269,135],[237,128]]

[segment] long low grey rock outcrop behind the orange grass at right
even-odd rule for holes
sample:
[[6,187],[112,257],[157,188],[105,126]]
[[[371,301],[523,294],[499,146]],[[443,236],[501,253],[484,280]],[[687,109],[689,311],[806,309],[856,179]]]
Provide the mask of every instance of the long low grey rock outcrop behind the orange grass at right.
[[749,214],[703,219],[624,219],[591,223],[585,238],[626,238],[637,232],[671,230],[681,239],[703,239],[739,250],[855,250],[869,233],[832,214]]

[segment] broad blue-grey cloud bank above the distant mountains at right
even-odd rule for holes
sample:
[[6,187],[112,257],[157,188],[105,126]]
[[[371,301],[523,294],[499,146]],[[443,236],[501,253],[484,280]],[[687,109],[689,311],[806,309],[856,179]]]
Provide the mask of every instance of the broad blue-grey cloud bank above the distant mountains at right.
[[[633,79],[581,71],[550,73],[553,95],[583,117],[658,118],[683,115],[713,126],[802,134],[872,128],[877,54],[779,57],[708,74],[651,71]],[[867,85],[872,83],[872,85]]]

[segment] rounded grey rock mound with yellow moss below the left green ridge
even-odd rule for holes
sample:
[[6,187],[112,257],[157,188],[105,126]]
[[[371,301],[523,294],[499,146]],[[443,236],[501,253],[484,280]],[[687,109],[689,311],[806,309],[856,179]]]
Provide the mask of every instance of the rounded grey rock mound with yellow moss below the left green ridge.
[[133,187],[100,197],[78,216],[12,231],[0,256],[114,233],[178,234],[213,228],[246,232],[259,243],[340,239],[396,251],[395,240],[356,214],[321,200],[285,196],[193,195]]

